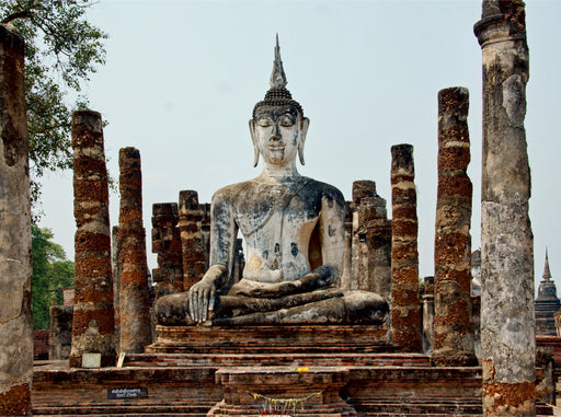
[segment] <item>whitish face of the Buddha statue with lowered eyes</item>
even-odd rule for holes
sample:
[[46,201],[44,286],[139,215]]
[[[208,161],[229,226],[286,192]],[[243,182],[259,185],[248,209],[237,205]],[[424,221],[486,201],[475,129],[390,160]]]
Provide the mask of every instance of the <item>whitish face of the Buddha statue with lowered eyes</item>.
[[298,109],[290,105],[263,105],[250,120],[251,137],[255,147],[255,165],[259,154],[267,164],[286,165],[300,152],[304,163],[304,141],[309,120],[301,117]]

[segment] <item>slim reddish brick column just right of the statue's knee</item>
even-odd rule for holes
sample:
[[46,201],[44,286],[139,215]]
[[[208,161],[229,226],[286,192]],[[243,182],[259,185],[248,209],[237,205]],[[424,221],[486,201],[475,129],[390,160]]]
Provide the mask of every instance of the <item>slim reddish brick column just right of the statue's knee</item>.
[[421,301],[413,147],[391,147],[391,341],[421,351]]

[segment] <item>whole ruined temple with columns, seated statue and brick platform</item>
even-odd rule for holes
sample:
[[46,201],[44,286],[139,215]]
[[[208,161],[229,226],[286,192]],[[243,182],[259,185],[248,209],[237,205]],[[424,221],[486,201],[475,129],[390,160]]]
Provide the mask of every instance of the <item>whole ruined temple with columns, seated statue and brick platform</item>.
[[[31,323],[27,271],[10,276],[20,292],[0,305],[0,344],[22,355],[9,379],[0,372],[0,415],[28,415],[31,406],[37,416],[552,415],[545,403],[556,401],[561,338],[542,313],[560,305],[546,257],[535,320],[520,8],[485,0],[476,25],[486,158],[480,265],[470,242],[468,92],[451,88],[438,95],[435,276],[422,283],[413,147],[385,150],[391,219],[374,181],[354,182],[345,201],[300,176],[309,120],[286,88],[278,42],[271,89],[250,121],[263,173],[220,188],[210,204],[192,189],[150,201],[153,288],[139,151],[122,151],[121,216],[111,229],[101,115],[75,114],[76,297],[51,310],[50,359],[35,364],[31,399],[31,327],[10,327]],[[287,136],[295,140],[283,142]],[[513,161],[524,163],[514,170]],[[27,220],[15,219],[10,233],[27,230]],[[513,247],[501,253],[496,240]],[[539,336],[546,324],[550,336]]]

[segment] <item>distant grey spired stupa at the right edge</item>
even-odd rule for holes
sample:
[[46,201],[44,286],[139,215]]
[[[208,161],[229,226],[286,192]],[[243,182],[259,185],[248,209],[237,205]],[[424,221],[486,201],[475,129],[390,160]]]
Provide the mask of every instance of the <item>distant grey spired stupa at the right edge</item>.
[[543,276],[538,287],[538,298],[536,299],[536,335],[537,336],[557,336],[554,314],[561,308],[561,302],[557,298],[556,282],[551,280],[549,270],[548,251],[546,250],[546,264],[543,266]]

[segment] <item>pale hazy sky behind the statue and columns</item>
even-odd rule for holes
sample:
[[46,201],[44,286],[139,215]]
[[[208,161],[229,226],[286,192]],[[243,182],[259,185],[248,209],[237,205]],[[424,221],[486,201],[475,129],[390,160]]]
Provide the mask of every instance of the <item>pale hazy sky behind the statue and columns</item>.
[[[549,247],[561,282],[561,2],[527,0],[530,80],[526,131],[533,174],[530,217],[536,285]],[[420,275],[434,275],[437,93],[470,91],[472,247],[480,246],[481,1],[125,1],[102,0],[89,19],[110,34],[107,62],[85,91],[105,129],[108,169],[118,150],[140,150],[144,212],[181,189],[208,202],[218,188],[259,175],[248,129],[268,89],[275,34],[288,89],[311,119],[300,173],[337,186],[374,179],[390,201],[390,147],[414,146]],[[72,174],[45,181],[41,225],[73,258]],[[118,196],[111,196],[112,225]],[[156,257],[149,256],[150,267]],[[561,292],[561,288],[560,288]]]

